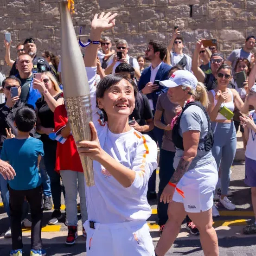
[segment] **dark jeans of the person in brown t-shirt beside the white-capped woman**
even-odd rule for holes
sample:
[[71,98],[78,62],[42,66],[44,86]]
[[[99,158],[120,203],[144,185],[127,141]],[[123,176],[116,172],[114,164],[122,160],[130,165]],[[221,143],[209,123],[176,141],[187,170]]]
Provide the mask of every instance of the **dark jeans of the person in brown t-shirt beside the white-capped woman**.
[[167,209],[168,204],[164,204],[164,202],[160,203],[160,196],[168,184],[170,179],[173,176],[174,168],[173,168],[173,159],[175,152],[167,151],[164,149],[160,150],[160,170],[159,170],[159,192],[158,192],[158,200],[157,200],[157,216],[159,218],[158,224],[165,225],[168,220]]

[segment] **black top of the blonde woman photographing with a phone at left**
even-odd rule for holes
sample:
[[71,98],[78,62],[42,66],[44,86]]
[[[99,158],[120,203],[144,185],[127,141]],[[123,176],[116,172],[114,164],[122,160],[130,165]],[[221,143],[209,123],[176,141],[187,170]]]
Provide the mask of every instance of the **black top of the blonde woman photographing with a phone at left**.
[[[57,101],[62,97],[62,92],[54,97]],[[41,125],[45,128],[54,128],[54,113],[49,108],[44,98],[39,98],[36,102],[38,109],[38,118],[40,119]],[[47,134],[41,134],[41,141],[50,142],[52,141]],[[54,142],[54,141],[52,141]],[[57,142],[57,141],[56,141]]]

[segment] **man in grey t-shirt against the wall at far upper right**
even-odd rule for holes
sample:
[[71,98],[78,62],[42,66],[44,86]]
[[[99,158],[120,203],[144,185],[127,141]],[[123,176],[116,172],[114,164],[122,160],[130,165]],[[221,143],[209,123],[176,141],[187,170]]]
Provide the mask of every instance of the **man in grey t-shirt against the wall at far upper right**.
[[248,59],[251,61],[252,56],[252,50],[255,46],[256,38],[255,36],[248,36],[245,40],[243,48],[236,49],[230,53],[230,56],[228,57],[226,63],[230,66],[232,66],[232,74],[235,74],[235,66],[237,63],[237,59]]

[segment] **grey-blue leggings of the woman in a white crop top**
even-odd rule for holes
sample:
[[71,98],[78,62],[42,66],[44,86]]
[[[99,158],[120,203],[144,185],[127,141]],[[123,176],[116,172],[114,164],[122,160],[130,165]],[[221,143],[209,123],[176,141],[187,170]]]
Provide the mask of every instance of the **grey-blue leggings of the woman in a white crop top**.
[[214,133],[214,144],[211,151],[218,170],[221,162],[221,194],[227,195],[230,185],[230,167],[237,149],[236,128],[234,122],[212,122],[211,127]]

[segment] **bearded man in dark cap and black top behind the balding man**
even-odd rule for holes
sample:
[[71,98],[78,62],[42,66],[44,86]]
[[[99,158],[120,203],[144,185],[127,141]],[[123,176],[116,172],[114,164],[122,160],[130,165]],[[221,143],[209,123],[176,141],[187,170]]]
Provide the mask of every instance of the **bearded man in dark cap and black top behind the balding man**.
[[[41,73],[44,71],[51,71],[51,67],[49,66],[48,62],[44,58],[37,56],[37,46],[33,38],[27,38],[24,41],[24,52],[22,53],[26,53],[32,58],[33,70],[35,72]],[[19,71],[16,68],[15,61],[10,71],[10,76],[16,76],[18,73]],[[54,75],[54,73],[52,74]]]

